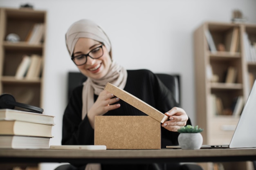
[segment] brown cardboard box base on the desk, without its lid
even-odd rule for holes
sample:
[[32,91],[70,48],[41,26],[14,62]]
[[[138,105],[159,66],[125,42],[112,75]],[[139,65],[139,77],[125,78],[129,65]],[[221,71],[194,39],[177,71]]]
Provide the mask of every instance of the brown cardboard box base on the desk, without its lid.
[[94,145],[107,149],[161,149],[161,126],[150,116],[95,116]]

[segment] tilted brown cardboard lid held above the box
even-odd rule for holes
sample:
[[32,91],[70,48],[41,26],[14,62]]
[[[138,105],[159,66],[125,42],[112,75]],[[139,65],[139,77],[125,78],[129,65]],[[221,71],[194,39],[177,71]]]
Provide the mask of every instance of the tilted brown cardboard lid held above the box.
[[153,108],[146,102],[142,101],[141,99],[135,97],[134,95],[118,88],[117,86],[107,83],[104,87],[104,90],[112,93],[119,99],[123,100],[124,102],[130,104],[131,106],[139,109],[141,112],[146,113],[148,116],[156,119],[157,121],[164,123],[168,119],[168,116],[164,115],[159,110]]

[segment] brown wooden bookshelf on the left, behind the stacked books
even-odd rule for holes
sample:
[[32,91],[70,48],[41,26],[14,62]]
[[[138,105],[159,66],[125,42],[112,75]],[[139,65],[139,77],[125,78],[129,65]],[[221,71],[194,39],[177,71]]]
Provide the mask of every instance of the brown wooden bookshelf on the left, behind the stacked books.
[[[9,93],[15,97],[16,102],[37,107],[43,106],[46,14],[46,11],[34,9],[0,8],[0,94]],[[29,34],[36,24],[42,24],[44,27],[40,33],[34,33],[37,41],[30,42]],[[18,35],[20,40],[7,40],[7,35],[11,33]],[[40,71],[32,78],[26,78],[24,74],[22,78],[17,79],[16,71],[24,55],[40,56]]]

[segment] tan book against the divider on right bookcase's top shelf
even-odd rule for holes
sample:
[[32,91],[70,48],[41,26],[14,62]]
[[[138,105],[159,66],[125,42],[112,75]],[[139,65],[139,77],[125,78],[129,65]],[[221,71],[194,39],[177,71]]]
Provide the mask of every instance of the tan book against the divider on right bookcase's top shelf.
[[235,53],[238,51],[238,38],[239,38],[239,29],[238,27],[234,27],[230,31],[227,32],[225,36],[225,49],[228,52]]

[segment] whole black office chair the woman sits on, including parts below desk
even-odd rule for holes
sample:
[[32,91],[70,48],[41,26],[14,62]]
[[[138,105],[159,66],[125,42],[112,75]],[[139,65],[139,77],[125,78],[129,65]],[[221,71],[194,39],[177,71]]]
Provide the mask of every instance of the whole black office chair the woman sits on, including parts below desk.
[[[164,85],[170,89],[173,93],[173,96],[176,99],[176,102],[180,104],[180,76],[179,75],[170,75],[164,73],[156,73],[157,77],[164,83]],[[70,72],[68,73],[68,98],[72,90],[86,80],[86,77],[79,72]],[[167,164],[166,164],[167,165]],[[168,167],[168,165],[166,166]],[[152,164],[152,169],[154,170],[168,170],[166,167],[159,167],[157,164]],[[79,170],[76,167],[70,164],[64,164],[58,166],[55,170]],[[184,163],[180,165],[180,170],[203,170],[201,166],[194,163]]]

